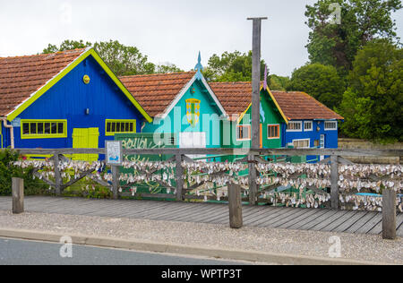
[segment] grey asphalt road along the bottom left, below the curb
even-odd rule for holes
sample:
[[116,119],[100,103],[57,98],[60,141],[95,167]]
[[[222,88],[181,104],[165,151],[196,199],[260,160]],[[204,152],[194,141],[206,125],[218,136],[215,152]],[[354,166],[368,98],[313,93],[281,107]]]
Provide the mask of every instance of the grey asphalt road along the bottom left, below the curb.
[[[61,257],[62,244],[0,238],[0,265],[241,265],[244,262],[73,245]],[[64,254],[69,249],[63,249]]]

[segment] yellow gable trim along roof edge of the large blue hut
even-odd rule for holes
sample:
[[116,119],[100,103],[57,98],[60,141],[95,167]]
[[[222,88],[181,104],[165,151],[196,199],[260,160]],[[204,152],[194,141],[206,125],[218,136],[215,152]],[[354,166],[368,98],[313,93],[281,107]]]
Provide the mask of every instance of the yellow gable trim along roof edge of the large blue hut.
[[7,115],[7,120],[13,121],[15,117],[19,116],[25,109],[30,107],[32,103],[34,103],[43,94],[45,94],[47,90],[50,90],[58,81],[62,80],[67,73],[70,73],[70,71],[72,71],[77,65],[81,64],[81,62],[84,61],[88,56],[94,57],[94,59],[100,64],[102,69],[112,79],[112,81],[116,83],[117,87],[124,92],[124,95],[127,97],[127,99],[129,99],[133,103],[134,107],[136,107],[140,111],[141,115],[144,116],[149,123],[151,123],[152,118],[150,117],[150,115],[148,115],[144,108],[141,107],[136,99],[133,98],[133,95],[124,87],[123,83],[119,81],[115,73],[110,70],[107,64],[105,64],[105,62],[99,57],[99,55],[95,52],[93,48],[89,48],[88,50],[84,51],[81,56],[78,56],[75,60],[73,60],[71,64],[67,65],[64,70],[58,73],[53,79],[47,81],[47,83],[39,90],[34,92],[29,99],[26,99],[24,102],[21,103],[20,106],[16,107],[13,112],[9,113]]

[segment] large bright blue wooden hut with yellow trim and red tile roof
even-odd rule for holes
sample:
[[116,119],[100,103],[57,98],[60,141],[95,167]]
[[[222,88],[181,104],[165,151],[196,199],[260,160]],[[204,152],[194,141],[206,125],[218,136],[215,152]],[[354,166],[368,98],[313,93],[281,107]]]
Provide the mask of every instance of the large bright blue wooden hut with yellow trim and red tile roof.
[[44,149],[104,147],[152,121],[92,48],[0,58],[0,119],[2,148]]

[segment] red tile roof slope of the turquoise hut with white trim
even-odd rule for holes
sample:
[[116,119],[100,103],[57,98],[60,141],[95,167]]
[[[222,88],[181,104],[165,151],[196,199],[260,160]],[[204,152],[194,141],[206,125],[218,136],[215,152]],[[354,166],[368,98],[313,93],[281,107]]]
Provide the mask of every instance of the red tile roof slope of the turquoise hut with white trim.
[[157,116],[167,109],[194,74],[157,73],[123,76],[119,79],[150,116]]

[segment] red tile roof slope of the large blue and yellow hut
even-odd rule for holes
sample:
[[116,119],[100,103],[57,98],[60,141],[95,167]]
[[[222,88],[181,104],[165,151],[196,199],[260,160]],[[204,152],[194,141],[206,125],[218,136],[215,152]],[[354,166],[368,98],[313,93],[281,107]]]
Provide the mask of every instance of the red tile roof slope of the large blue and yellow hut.
[[86,49],[53,54],[0,57],[0,116],[7,116],[15,107],[30,98]]

